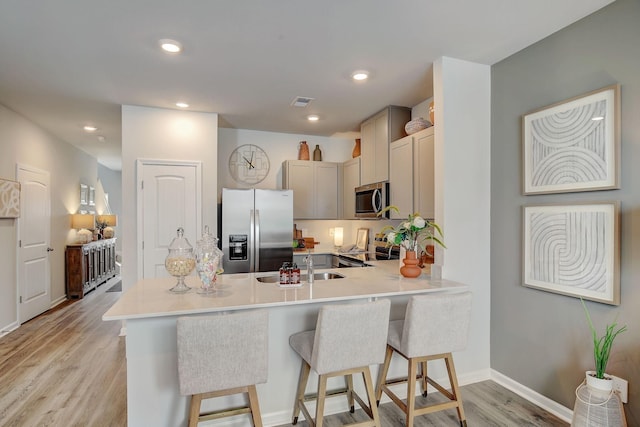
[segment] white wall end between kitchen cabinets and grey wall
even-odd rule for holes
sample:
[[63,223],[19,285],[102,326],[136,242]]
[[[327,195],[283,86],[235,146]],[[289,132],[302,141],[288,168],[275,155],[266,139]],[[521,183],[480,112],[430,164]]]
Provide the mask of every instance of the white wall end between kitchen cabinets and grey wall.
[[460,372],[490,366],[491,69],[440,58],[434,64],[436,222],[445,251],[442,277],[474,294],[467,351]]

